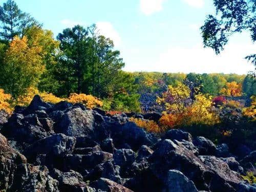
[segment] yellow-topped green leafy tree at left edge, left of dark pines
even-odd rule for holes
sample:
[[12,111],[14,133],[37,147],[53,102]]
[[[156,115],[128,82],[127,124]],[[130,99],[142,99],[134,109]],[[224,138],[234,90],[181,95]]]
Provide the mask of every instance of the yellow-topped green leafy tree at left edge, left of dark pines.
[[20,39],[15,36],[10,42],[0,70],[0,85],[14,98],[38,83],[45,70],[40,56],[41,50],[40,46],[29,47],[27,37]]

